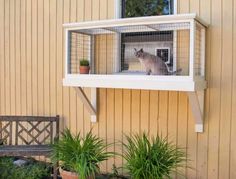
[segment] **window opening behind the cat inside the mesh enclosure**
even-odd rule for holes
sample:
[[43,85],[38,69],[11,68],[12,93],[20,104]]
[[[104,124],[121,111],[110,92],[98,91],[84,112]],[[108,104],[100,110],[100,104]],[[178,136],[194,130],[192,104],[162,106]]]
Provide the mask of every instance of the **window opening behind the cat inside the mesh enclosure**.
[[121,70],[143,71],[145,66],[135,56],[135,49],[160,57],[173,70],[173,32],[138,32],[122,35]]

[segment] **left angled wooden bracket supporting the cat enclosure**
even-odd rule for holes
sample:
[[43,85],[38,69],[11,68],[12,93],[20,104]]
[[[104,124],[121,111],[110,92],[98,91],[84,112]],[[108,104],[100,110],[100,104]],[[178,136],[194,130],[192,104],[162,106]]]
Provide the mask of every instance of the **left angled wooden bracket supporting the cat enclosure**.
[[91,88],[91,101],[84,93],[81,87],[75,87],[77,95],[80,97],[83,102],[85,108],[87,108],[88,112],[91,115],[91,122],[97,122],[97,88]]

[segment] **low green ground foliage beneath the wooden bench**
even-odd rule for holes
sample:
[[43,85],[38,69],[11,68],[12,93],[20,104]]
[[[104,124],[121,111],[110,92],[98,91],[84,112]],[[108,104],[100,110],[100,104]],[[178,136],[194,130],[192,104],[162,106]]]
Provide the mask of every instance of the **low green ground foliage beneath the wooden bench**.
[[[0,158],[0,178],[4,179],[43,179],[50,177],[50,167],[45,163],[31,161],[18,167],[13,164],[14,158]],[[29,172],[30,171],[30,172]]]

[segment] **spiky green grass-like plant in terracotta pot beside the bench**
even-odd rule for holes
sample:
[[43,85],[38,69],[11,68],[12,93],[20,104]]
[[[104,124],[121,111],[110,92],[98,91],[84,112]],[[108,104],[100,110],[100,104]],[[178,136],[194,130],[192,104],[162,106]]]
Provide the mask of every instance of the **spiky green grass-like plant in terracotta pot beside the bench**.
[[76,172],[81,179],[99,173],[99,163],[113,155],[106,152],[105,142],[90,131],[83,138],[65,129],[58,142],[53,144],[52,161],[60,162],[65,170]]

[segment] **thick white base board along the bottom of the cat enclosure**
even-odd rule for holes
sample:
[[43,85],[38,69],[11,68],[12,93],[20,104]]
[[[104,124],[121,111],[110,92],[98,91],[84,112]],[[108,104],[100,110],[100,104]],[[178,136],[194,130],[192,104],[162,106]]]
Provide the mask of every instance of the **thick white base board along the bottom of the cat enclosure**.
[[199,91],[206,88],[204,79],[191,80],[189,76],[146,75],[67,75],[64,86],[91,88],[123,88],[168,91]]

